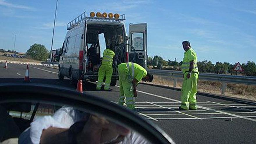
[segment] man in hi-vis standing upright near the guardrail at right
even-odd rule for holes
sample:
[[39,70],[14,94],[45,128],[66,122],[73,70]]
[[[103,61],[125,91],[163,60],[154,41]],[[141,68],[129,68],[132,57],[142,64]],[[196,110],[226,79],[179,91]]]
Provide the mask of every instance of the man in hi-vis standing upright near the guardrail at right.
[[182,42],[185,51],[182,61],[183,83],[181,88],[180,110],[196,110],[196,93],[198,82],[197,56],[189,41]]

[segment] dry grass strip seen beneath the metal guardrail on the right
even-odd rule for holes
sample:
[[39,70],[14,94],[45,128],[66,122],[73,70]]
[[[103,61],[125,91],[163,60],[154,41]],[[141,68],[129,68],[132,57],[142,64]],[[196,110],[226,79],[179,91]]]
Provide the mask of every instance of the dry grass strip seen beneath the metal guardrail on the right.
[[[171,78],[158,75],[154,75],[152,83],[173,87],[173,80]],[[177,88],[181,88],[182,80],[177,80],[176,86]],[[221,95],[221,88],[222,84],[220,82],[198,81],[198,91],[200,92]],[[256,101],[256,86],[227,84],[225,96]]]

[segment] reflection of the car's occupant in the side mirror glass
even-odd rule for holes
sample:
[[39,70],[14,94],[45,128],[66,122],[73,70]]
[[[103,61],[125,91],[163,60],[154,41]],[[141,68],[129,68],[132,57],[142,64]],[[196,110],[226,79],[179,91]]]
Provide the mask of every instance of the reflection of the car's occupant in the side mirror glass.
[[0,109],[1,123],[8,125],[8,129],[1,125],[2,141],[18,141],[24,144],[150,143],[140,133],[120,122],[117,124],[104,116],[88,113],[85,109],[79,110],[74,106],[29,102],[2,103]]

